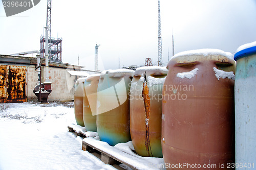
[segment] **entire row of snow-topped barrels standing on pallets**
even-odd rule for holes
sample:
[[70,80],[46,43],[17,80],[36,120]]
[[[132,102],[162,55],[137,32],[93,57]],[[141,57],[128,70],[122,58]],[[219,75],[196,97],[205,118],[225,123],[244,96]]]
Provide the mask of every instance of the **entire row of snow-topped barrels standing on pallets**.
[[105,70],[80,78],[76,122],[110,145],[132,140],[137,154],[163,157],[166,169],[254,166],[256,46],[234,59],[201,49],[176,54],[167,69]]

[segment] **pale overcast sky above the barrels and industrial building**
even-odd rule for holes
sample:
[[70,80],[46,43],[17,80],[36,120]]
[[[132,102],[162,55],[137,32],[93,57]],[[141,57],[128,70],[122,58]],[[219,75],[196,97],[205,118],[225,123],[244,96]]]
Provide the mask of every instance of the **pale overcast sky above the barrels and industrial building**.
[[[0,4],[0,54],[39,50],[47,0],[6,17]],[[200,48],[236,52],[256,41],[256,0],[160,0],[163,64],[174,53]],[[94,69],[157,64],[158,0],[52,0],[52,37],[62,37],[62,62]]]

